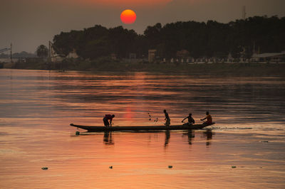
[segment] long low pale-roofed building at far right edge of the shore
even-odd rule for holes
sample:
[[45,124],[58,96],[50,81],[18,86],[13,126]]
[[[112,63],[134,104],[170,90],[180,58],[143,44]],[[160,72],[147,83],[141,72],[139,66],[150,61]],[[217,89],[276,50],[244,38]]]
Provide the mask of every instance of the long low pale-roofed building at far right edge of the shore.
[[252,61],[254,62],[281,62],[285,60],[285,51],[281,53],[254,53]]

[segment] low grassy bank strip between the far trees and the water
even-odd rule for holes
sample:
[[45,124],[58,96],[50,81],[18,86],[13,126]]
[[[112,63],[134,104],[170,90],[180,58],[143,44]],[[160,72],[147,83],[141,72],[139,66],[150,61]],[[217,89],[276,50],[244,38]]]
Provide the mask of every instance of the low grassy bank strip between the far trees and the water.
[[110,60],[63,63],[4,63],[3,68],[90,72],[161,72],[191,75],[285,75],[285,63],[121,63]]

